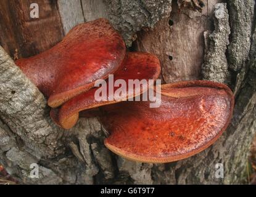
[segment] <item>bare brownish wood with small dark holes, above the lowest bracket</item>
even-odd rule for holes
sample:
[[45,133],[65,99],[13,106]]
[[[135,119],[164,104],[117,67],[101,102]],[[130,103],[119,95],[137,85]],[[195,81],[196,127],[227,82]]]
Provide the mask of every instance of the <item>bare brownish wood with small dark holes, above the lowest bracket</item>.
[[168,18],[161,20],[153,30],[138,34],[137,50],[151,52],[159,57],[165,82],[200,79],[204,60],[204,32],[212,30],[214,5],[211,1],[202,13],[179,10],[173,5]]

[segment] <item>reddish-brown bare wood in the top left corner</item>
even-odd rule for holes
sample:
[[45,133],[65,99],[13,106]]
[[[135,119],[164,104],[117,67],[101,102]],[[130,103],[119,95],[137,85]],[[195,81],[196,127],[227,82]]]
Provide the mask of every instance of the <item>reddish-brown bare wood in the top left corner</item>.
[[[30,18],[30,4],[39,6],[39,18]],[[20,58],[51,48],[63,37],[56,1],[0,1],[0,44]]]

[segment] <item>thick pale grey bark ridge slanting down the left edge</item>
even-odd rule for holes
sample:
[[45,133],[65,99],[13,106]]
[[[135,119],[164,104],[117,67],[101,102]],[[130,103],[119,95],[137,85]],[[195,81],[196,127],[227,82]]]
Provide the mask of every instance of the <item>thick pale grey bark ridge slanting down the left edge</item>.
[[[51,157],[57,140],[47,140],[54,135],[59,139],[60,129],[47,116],[46,100],[0,47],[0,114],[4,122],[19,135],[34,155]],[[15,90],[15,94],[12,91]]]

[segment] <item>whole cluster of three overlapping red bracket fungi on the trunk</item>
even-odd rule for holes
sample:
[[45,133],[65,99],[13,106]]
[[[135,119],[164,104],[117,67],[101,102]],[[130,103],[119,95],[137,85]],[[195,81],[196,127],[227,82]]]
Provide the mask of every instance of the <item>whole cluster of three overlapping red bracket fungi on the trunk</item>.
[[[154,86],[159,59],[143,52],[126,54],[122,36],[104,18],[75,26],[52,49],[15,63],[49,98],[56,124],[69,129],[84,110],[97,114],[94,109],[101,107],[101,122],[110,132],[105,146],[134,161],[167,163],[195,155],[220,137],[233,114],[234,96],[225,84],[183,81],[159,90]],[[97,100],[101,87],[95,82],[107,78],[107,97]],[[147,86],[139,82],[120,89],[118,79],[124,84],[146,80]],[[143,97],[148,89],[161,95],[155,97],[160,107],[150,108],[150,99],[126,101]]]

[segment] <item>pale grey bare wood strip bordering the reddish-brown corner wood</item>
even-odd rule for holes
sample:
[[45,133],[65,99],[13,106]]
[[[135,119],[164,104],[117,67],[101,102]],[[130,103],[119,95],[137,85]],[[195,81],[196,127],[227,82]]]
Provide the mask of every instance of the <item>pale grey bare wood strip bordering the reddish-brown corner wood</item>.
[[57,2],[65,34],[67,34],[73,26],[85,22],[81,0],[59,0]]

